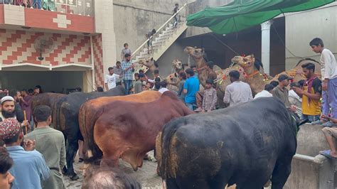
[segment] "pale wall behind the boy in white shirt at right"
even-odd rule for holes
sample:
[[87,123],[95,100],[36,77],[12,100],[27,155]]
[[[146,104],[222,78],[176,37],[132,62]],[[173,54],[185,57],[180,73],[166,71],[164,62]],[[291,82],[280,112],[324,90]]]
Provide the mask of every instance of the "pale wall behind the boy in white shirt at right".
[[[337,53],[337,3],[321,9],[291,13],[286,16],[286,45],[294,55],[319,60],[320,55],[311,51],[309,42],[322,38],[325,48]],[[294,68],[300,58],[286,50],[286,70]]]

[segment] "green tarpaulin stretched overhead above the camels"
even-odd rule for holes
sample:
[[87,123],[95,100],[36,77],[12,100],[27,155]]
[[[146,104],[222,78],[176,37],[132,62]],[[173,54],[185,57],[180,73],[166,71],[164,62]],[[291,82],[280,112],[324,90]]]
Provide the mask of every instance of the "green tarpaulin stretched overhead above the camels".
[[226,6],[206,8],[188,15],[188,26],[208,27],[220,34],[242,31],[281,13],[306,11],[335,0],[235,0]]

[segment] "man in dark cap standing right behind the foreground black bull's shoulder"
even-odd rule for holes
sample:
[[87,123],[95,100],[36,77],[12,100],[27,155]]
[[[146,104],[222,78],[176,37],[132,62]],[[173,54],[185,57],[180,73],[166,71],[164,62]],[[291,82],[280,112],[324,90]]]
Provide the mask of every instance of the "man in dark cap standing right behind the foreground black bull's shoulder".
[[286,88],[289,85],[289,80],[292,80],[292,78],[282,74],[279,75],[277,80],[279,80],[279,85],[272,90],[272,96],[280,99],[291,112],[296,112],[296,107],[289,102],[289,91]]

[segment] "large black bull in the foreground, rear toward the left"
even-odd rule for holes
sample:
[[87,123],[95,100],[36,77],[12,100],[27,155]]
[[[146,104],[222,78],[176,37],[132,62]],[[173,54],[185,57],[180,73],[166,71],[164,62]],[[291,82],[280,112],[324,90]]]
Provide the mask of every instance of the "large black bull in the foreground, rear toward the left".
[[173,119],[157,136],[168,188],[282,188],[296,151],[296,121],[273,97]]

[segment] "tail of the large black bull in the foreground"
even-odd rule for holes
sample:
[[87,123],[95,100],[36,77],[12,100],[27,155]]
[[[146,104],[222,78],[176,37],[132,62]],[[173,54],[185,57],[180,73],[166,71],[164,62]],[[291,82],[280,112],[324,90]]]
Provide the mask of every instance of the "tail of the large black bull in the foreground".
[[173,139],[173,136],[176,134],[176,131],[183,126],[183,121],[179,119],[180,121],[177,121],[177,119],[173,119],[168,124],[164,126],[161,133],[161,139],[159,140],[160,151],[161,155],[159,155],[159,175],[161,175],[161,178],[166,180],[167,178],[171,177],[169,168],[170,165],[170,144],[171,139]]

